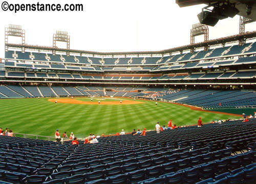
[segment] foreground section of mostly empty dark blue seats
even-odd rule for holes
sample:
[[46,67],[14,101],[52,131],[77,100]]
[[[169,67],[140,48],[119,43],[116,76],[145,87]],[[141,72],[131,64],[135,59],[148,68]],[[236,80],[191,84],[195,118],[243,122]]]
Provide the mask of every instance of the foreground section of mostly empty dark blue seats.
[[0,136],[1,183],[255,183],[256,119],[100,137]]

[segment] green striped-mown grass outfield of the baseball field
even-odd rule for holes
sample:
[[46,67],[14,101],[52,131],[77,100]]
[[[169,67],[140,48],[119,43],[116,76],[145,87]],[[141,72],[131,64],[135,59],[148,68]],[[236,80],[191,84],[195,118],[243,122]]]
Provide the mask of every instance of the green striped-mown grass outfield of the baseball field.
[[[95,98],[96,99],[99,98]],[[118,98],[119,100],[120,98]],[[78,100],[90,101],[91,98]],[[123,99],[133,100],[133,99]],[[142,101],[142,100],[138,100]],[[62,134],[71,131],[75,135],[89,133],[116,133],[124,129],[154,129],[157,121],[167,126],[172,119],[177,126],[203,123],[219,119],[238,119],[213,112],[190,110],[188,107],[154,101],[134,105],[84,105],[49,102],[48,98],[0,100],[0,127],[9,127],[13,132],[54,136],[58,128]]]

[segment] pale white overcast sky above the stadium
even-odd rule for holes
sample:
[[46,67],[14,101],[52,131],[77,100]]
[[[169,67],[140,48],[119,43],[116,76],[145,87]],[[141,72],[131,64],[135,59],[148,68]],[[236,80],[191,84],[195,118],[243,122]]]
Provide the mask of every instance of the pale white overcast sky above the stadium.
[[[70,48],[97,52],[159,51],[190,43],[190,29],[199,22],[197,14],[204,5],[180,8],[175,0],[52,0],[12,1],[9,4],[82,4],[83,11],[3,11],[0,9],[0,58],[4,58],[5,28],[21,25],[26,43],[52,46],[53,34],[67,31]],[[4,2],[0,0],[1,5]],[[246,31],[256,30],[256,22]],[[239,33],[239,16],[220,20],[209,27],[209,39]],[[203,36],[196,37],[196,42]],[[9,42],[21,43],[20,39]],[[65,44],[57,43],[65,48]]]

